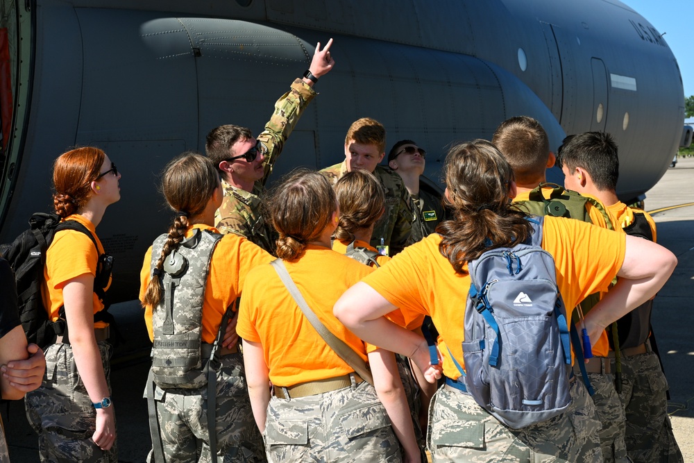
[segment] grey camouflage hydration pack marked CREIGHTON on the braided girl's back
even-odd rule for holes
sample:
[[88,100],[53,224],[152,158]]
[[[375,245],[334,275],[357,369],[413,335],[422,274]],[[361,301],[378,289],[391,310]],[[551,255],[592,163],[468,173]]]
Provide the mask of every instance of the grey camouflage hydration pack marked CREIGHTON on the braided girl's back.
[[[197,389],[208,382],[203,372],[203,296],[212,253],[223,235],[196,230],[164,260],[164,296],[153,310],[152,373],[162,389]],[[167,235],[152,245],[151,270],[156,267]]]

